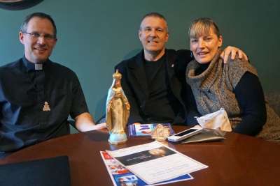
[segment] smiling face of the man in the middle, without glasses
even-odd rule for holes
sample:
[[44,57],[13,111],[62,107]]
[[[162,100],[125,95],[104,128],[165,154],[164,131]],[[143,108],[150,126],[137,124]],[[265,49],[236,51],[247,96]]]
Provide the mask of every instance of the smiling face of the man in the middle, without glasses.
[[168,40],[167,22],[160,17],[144,18],[139,29],[139,39],[144,47],[145,57],[162,56]]

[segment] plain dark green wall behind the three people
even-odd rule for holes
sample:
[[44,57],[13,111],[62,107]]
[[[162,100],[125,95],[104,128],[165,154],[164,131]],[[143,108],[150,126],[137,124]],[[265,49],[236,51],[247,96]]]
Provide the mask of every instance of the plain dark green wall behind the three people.
[[23,55],[18,30],[36,11],[52,15],[58,42],[50,59],[74,70],[94,118],[104,113],[113,67],[141,49],[137,29],[141,17],[162,13],[169,24],[167,47],[189,48],[187,28],[197,17],[211,17],[223,33],[224,45],[246,52],[258,69],[265,91],[280,91],[279,1],[131,1],[44,0],[27,10],[0,9],[0,65]]

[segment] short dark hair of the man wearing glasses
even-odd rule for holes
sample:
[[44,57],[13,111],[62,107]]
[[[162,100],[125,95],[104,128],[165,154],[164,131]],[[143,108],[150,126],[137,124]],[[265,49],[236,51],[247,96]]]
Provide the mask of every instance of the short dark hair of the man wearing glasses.
[[27,17],[25,17],[25,20],[22,22],[22,25],[20,26],[20,31],[22,33],[25,33],[27,31],[27,25],[33,17],[40,17],[41,19],[49,20],[53,27],[53,35],[55,36],[55,38],[57,38],[57,26],[55,26],[55,21],[52,20],[52,17],[50,17],[50,15],[45,13],[31,13],[27,15]]

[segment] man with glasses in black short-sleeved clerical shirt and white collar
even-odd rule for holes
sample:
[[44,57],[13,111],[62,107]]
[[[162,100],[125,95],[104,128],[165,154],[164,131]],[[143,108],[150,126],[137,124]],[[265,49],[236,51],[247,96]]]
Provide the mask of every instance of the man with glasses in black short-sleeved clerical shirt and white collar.
[[0,156],[69,134],[69,115],[80,132],[99,130],[76,74],[50,61],[57,29],[50,15],[33,13],[22,23],[25,56],[0,68]]

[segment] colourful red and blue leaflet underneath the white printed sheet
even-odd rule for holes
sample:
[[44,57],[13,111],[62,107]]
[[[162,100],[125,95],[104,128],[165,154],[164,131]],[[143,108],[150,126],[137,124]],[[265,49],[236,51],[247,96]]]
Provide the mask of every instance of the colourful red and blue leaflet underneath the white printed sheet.
[[[111,180],[113,181],[113,185],[115,186],[123,186],[123,185],[147,185],[143,180],[134,175],[134,173],[130,172],[128,169],[125,169],[120,163],[113,159],[107,152],[100,151],[102,156],[102,160],[106,165],[106,169],[109,172]],[[178,178],[174,178],[172,180],[167,180],[165,182],[156,183],[153,185],[164,185],[167,183],[175,183],[183,180],[192,180],[193,177],[190,174],[186,174],[183,176],[179,176]]]

